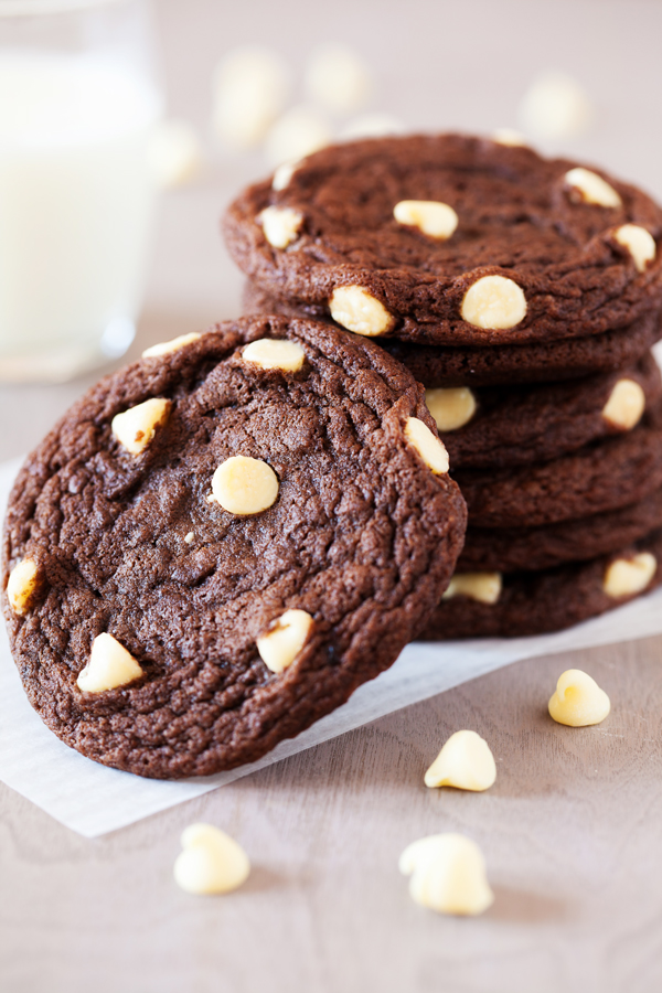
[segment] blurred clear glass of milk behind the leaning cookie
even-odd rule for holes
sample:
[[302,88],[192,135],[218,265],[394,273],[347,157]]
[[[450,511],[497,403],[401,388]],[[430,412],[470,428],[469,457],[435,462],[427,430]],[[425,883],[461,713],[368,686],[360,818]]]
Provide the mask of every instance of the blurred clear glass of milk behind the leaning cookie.
[[0,380],[130,345],[162,103],[148,0],[0,0]]

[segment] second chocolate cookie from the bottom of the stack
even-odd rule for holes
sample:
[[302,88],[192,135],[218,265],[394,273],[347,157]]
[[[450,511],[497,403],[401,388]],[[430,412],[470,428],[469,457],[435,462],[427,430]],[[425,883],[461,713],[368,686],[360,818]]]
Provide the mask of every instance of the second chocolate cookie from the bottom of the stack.
[[624,548],[662,527],[662,488],[638,503],[542,527],[469,527],[458,569],[513,573],[551,569]]

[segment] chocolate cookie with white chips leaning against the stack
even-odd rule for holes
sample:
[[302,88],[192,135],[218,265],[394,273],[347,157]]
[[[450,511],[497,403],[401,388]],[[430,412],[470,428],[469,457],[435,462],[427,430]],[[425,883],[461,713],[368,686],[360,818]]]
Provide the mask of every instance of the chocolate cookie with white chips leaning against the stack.
[[243,319],[148,350],[10,498],[4,610],[32,705],[141,776],[259,758],[429,618],[465,531],[447,465],[421,387],[344,332]]

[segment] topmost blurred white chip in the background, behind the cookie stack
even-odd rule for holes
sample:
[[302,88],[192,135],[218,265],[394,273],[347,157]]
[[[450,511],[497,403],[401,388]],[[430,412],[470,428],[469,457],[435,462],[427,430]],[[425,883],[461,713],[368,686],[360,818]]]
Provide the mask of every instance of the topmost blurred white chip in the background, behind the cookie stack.
[[365,106],[373,81],[366,64],[352,49],[330,43],[313,50],[306,88],[314,102],[333,114],[351,114]]

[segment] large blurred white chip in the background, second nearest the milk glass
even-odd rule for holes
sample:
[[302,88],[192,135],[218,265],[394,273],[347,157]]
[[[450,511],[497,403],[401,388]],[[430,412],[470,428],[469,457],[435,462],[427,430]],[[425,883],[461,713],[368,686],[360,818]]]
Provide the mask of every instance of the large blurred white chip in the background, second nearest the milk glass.
[[231,148],[254,148],[282,113],[290,88],[289,66],[276,52],[235,49],[214,71],[212,129]]

